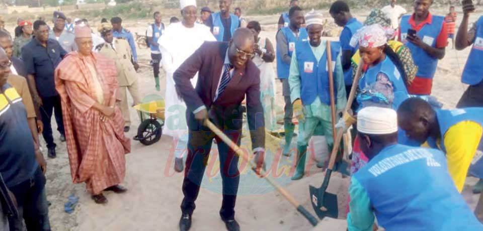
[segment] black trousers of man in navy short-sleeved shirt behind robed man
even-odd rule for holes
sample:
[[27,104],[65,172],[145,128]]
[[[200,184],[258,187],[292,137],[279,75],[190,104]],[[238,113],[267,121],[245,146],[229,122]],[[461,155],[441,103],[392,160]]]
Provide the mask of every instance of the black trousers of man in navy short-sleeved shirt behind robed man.
[[55,121],[57,122],[57,131],[64,134],[64,123],[62,121],[62,105],[60,104],[60,96],[42,97],[43,105],[40,107],[42,113],[42,123],[44,124],[44,131],[42,135],[47,148],[55,148],[54,138],[52,136],[52,112],[55,113]]

